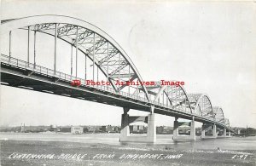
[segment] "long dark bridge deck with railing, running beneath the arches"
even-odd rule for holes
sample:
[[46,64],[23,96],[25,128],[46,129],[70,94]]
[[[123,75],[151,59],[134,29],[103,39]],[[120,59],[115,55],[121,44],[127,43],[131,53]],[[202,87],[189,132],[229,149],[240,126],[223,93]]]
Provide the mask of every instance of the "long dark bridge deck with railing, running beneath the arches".
[[[61,72],[54,73],[53,70],[43,66],[34,66],[23,60],[15,58],[9,60],[7,57],[6,55],[1,55],[1,84],[3,85],[64,95],[80,100],[90,100],[112,106],[129,107],[143,112],[150,112],[150,106],[153,105],[155,113],[184,119],[192,119],[192,117],[195,117],[195,121],[201,123],[216,123],[220,128],[227,128],[223,123],[215,122],[213,119],[207,119],[206,117],[188,112],[180,112],[172,109],[171,106],[148,101],[135,94],[115,92],[110,87],[87,86],[85,84],[81,84],[79,87],[73,87],[70,84],[73,79],[82,79]],[[230,128],[227,129],[231,130]]]

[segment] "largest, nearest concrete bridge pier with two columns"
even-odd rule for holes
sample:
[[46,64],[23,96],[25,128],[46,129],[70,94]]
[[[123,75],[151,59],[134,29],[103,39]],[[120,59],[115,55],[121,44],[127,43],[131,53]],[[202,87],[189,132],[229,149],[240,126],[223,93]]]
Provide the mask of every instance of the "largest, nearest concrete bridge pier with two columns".
[[[156,141],[156,126],[154,122],[154,106],[151,107],[151,112],[147,117],[129,116],[129,108],[124,108],[122,114],[120,142],[148,142],[154,143]],[[148,123],[147,136],[131,136],[129,124],[134,122]]]

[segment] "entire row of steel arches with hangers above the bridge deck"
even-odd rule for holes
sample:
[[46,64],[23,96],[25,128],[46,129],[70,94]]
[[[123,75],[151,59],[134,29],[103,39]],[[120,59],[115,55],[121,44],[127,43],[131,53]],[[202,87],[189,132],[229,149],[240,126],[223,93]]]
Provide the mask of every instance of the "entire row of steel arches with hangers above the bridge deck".
[[[14,24],[15,22],[15,24]],[[73,61],[75,61],[75,77],[78,74],[78,52],[84,54],[84,79],[87,79],[86,60],[87,58],[92,63],[93,80],[99,81],[99,71],[105,76],[106,81],[109,81],[116,93],[122,92],[124,89],[128,94],[141,95],[148,100],[152,105],[172,108],[179,112],[189,113],[193,115],[206,117],[209,120],[214,120],[217,123],[225,124],[230,127],[229,119],[224,118],[224,112],[221,107],[212,106],[212,102],[207,94],[187,94],[181,85],[160,85],[155,82],[154,86],[131,86],[131,85],[116,85],[119,82],[143,82],[142,77],[137,71],[136,66],[132,63],[125,51],[116,43],[112,37],[96,26],[91,25],[83,20],[78,20],[71,17],[60,15],[38,15],[13,20],[2,20],[2,32],[9,32],[9,61],[11,60],[11,32],[15,29],[27,31],[28,47],[27,61],[30,64],[30,33],[34,31],[34,50],[36,50],[36,33],[41,32],[55,37],[55,62],[54,72],[56,74],[56,45],[58,40],[69,43],[72,47],[70,72],[73,77]],[[58,40],[57,40],[58,39]],[[73,60],[73,49],[76,50],[76,58]],[[18,63],[18,61],[17,61]],[[61,63],[61,62],[59,62]],[[18,65],[18,64],[17,64]],[[36,65],[36,51],[34,51],[34,66]],[[41,72],[41,68],[40,68]],[[59,73],[59,72],[58,72]],[[65,74],[66,76],[66,74]],[[133,90],[131,90],[133,89]],[[108,89],[107,89],[108,90]]]

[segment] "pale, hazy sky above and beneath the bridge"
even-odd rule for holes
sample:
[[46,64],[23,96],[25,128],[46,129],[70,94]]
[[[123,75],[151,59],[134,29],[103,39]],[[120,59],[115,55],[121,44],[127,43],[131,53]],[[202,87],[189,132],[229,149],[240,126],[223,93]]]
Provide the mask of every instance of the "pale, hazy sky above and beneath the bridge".
[[[231,126],[256,128],[256,3],[2,0],[0,12],[2,20],[63,14],[88,21],[125,49],[144,81],[181,80],[189,94],[208,94]],[[16,45],[20,38],[26,41],[20,35]],[[4,41],[3,36],[3,51]],[[121,107],[6,86],[0,90],[0,125],[120,125]],[[158,115],[156,124],[172,126],[173,117]]]

